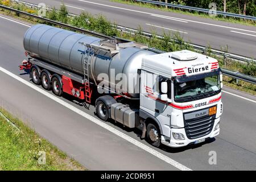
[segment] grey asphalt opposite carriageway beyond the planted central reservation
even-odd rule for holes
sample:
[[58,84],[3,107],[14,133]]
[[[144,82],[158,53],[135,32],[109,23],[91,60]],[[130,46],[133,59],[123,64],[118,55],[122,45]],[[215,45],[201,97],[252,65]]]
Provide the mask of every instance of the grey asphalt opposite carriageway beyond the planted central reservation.
[[[42,0],[26,0],[38,4]],[[103,14],[117,24],[138,28],[145,31],[155,30],[159,34],[170,29],[182,31],[184,40],[201,46],[221,49],[228,45],[229,52],[243,56],[256,57],[256,27],[242,24],[222,22],[185,14],[147,9],[144,7],[125,5],[108,0],[44,0],[47,6],[58,8],[61,2],[68,5],[71,13],[80,14],[82,10],[92,14]],[[148,25],[150,24],[150,25]],[[158,27],[156,27],[158,26]],[[164,27],[167,29],[159,28]]]

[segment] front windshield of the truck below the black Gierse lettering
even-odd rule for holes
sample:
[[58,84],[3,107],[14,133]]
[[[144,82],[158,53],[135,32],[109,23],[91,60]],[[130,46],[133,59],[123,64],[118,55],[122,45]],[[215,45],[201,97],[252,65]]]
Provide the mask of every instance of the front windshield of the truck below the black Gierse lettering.
[[[174,81],[174,100],[175,102],[189,102],[220,93],[220,76],[212,75],[197,77],[195,80]],[[196,78],[196,77],[195,77]]]

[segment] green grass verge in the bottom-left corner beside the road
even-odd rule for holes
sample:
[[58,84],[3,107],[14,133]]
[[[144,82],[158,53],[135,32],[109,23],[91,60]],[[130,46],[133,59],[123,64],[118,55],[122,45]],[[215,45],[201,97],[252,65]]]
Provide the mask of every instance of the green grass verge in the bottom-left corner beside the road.
[[[6,110],[0,111],[19,129],[0,116],[0,171],[86,170]],[[46,164],[38,163],[39,151],[46,152]]]

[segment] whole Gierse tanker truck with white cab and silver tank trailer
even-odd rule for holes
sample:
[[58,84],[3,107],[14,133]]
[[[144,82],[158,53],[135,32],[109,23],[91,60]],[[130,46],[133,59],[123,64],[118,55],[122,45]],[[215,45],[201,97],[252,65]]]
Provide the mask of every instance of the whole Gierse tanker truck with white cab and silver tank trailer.
[[183,147],[220,133],[218,61],[183,50],[156,53],[122,39],[103,40],[43,24],[29,28],[20,70],[57,96],[94,105],[97,116],[142,131],[155,147]]

